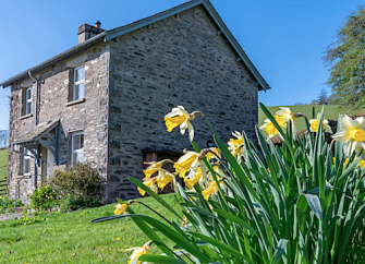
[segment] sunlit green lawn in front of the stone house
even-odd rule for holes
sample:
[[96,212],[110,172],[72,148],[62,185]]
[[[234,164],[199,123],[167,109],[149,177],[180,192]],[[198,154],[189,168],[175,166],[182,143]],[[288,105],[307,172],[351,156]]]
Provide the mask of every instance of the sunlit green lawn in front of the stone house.
[[[177,204],[173,194],[161,197]],[[168,219],[174,219],[154,199],[145,197],[143,202]],[[136,213],[156,216],[139,204],[131,206]],[[126,263],[132,252],[122,250],[142,247],[148,238],[130,218],[90,223],[112,215],[113,211],[112,205],[106,205],[68,214],[51,213],[47,220],[28,226],[9,227],[14,220],[0,221],[1,263]],[[157,252],[153,245],[150,253]]]

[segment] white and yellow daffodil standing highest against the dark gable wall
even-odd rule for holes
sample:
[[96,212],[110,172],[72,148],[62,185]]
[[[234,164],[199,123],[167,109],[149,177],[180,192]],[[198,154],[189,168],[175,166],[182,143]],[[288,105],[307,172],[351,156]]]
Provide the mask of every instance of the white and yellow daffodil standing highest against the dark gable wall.
[[172,108],[172,111],[165,116],[166,128],[169,132],[172,132],[174,128],[180,125],[180,133],[184,134],[185,130],[188,130],[188,137],[191,141],[194,140],[194,128],[191,123],[196,116],[202,115],[199,111],[188,113],[183,106]]

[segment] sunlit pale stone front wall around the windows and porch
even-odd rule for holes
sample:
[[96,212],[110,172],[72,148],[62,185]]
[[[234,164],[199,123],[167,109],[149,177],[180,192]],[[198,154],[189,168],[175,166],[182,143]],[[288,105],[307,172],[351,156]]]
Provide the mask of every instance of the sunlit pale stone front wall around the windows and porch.
[[[40,80],[38,123],[60,120],[58,167],[65,167],[70,160],[68,156],[70,155],[70,134],[74,131],[84,131],[84,160],[94,163],[99,172],[105,178],[107,176],[109,55],[109,45],[100,44],[42,72],[33,73]],[[70,82],[73,82],[70,80],[71,72],[80,64],[85,64],[85,101],[66,106],[72,84]],[[11,87],[10,143],[35,130],[35,84],[33,84],[33,116],[22,118],[24,88],[31,85],[32,80],[26,79]],[[14,195],[15,182],[23,177],[19,173],[20,163],[20,155],[10,149],[8,166],[10,196]],[[38,187],[40,171],[39,167]],[[27,195],[33,191],[33,177],[32,170],[31,177],[20,181],[21,196],[25,202],[28,202]]]

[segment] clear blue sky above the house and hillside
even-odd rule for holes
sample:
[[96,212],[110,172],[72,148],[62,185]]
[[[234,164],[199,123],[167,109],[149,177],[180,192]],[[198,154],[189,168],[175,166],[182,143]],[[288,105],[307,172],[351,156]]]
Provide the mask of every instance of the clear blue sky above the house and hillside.
[[[185,0],[2,1],[0,82],[77,44],[77,27],[101,21],[111,29]],[[311,103],[329,72],[321,58],[360,0],[211,0],[272,87],[267,106]],[[10,88],[0,91],[0,130],[9,128]]]

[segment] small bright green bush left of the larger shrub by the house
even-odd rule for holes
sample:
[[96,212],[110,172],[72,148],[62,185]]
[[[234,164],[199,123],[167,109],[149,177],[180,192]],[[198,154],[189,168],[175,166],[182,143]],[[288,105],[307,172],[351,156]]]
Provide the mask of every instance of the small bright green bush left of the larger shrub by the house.
[[50,209],[56,207],[59,204],[57,199],[57,194],[53,191],[52,187],[41,187],[39,189],[34,190],[31,197],[31,208],[34,209]]

